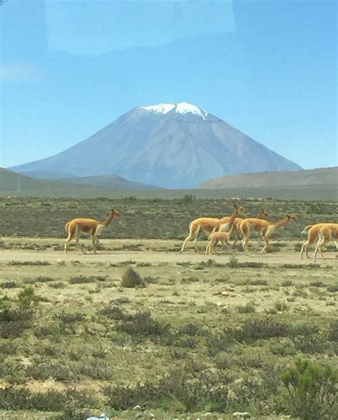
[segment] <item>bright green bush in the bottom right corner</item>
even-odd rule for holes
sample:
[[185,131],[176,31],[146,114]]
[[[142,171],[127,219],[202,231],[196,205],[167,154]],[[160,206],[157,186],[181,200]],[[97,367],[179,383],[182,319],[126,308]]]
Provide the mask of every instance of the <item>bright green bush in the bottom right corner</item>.
[[[331,367],[297,359],[281,376],[287,388],[286,408],[302,420],[334,419],[338,375]],[[334,405],[336,404],[336,407]]]

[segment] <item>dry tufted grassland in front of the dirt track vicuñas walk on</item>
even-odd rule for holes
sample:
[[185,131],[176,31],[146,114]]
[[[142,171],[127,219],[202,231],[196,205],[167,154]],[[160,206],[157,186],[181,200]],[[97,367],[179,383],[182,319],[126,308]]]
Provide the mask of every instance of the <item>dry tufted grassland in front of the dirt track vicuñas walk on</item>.
[[296,416],[287,369],[298,357],[337,365],[336,274],[235,257],[3,263],[0,407],[43,419],[134,419],[135,406],[139,418]]

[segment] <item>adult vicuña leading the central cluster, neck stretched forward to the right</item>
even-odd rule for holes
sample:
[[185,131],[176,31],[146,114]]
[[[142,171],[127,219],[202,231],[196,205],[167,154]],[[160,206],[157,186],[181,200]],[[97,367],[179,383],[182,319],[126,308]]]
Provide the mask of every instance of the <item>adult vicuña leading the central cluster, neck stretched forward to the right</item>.
[[244,219],[240,223],[240,231],[242,232],[242,236],[243,236],[241,243],[242,243],[243,250],[245,251],[245,254],[250,255],[247,244],[250,240],[251,230],[257,232],[258,235],[260,235],[260,239],[259,239],[256,251],[259,249],[261,241],[262,240],[265,241],[265,246],[263,247],[261,251],[261,254],[262,254],[263,252],[265,252],[265,250],[267,250],[267,247],[270,246],[268,239],[270,235],[272,234],[272,232],[276,229],[276,227],[284,226],[288,222],[290,222],[290,220],[295,220],[295,219],[296,219],[295,215],[286,215],[279,222],[267,222],[267,220],[251,219],[251,218]]

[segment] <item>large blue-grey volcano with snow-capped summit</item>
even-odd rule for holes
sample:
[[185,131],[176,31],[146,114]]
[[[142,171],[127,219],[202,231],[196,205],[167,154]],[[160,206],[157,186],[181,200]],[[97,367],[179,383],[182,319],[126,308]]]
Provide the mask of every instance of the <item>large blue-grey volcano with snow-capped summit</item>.
[[118,175],[164,188],[193,188],[236,173],[299,170],[296,163],[189,103],[133,108],[98,133],[17,172]]

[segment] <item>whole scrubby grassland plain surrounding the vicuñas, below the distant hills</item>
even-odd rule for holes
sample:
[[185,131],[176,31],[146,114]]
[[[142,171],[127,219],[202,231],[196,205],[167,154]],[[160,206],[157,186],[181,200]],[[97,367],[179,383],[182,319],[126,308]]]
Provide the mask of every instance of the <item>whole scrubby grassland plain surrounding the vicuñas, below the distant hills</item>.
[[17,252],[0,259],[0,419],[337,419],[337,261],[287,260],[304,225],[334,218],[334,203],[240,201],[250,214],[297,213],[275,235],[278,264],[242,261],[239,250],[152,258],[178,255],[189,220],[233,203],[114,202],[121,217],[106,237],[139,239],[103,240],[101,255],[144,255],[116,262],[64,257],[58,239],[65,220],[103,218],[111,201],[0,201],[0,253]]

